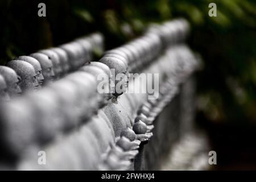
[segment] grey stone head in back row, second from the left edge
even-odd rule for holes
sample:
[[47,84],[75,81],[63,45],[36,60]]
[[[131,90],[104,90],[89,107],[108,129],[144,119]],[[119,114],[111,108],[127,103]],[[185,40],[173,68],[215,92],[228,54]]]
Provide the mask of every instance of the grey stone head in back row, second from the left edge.
[[5,78],[9,96],[11,98],[19,96],[22,93],[19,86],[21,78],[16,74],[16,72],[9,67],[0,66],[0,74]]

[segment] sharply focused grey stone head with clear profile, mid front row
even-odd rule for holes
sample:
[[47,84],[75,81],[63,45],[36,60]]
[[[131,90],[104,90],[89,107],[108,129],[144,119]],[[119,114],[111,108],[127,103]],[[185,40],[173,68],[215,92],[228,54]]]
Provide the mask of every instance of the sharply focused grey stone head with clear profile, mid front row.
[[114,79],[115,91],[113,95],[117,97],[126,92],[127,84],[129,82],[126,65],[115,57],[102,57],[100,62],[108,65],[110,70],[114,69],[115,76],[112,79]]

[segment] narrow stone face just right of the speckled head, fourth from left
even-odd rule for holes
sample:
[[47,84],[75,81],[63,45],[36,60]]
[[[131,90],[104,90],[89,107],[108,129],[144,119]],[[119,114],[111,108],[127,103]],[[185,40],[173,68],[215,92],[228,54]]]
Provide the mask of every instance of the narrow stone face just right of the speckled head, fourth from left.
[[16,58],[16,60],[23,60],[27,63],[30,63],[36,72],[36,80],[38,80],[39,88],[42,87],[44,82],[44,76],[42,75],[42,68],[38,60],[36,60],[34,57],[30,56],[19,56]]

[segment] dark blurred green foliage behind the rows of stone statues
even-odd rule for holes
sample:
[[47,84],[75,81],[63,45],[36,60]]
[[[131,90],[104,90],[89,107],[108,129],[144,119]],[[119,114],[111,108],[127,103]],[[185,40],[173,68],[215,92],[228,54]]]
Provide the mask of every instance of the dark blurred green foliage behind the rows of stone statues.
[[[47,17],[39,18],[45,2]],[[209,17],[209,3],[217,17]],[[183,16],[188,43],[204,60],[199,114],[212,122],[256,123],[256,2],[249,0],[1,0],[0,61],[100,31],[106,49],[142,34],[151,22]]]

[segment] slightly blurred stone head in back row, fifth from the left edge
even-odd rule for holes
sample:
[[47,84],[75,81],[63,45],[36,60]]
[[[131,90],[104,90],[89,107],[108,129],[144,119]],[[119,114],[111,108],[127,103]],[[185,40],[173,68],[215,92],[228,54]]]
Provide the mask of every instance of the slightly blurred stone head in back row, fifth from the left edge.
[[49,59],[49,57],[43,53],[32,53],[30,56],[39,61],[44,76],[44,84],[53,81],[55,78],[55,73],[53,72],[52,61]]

